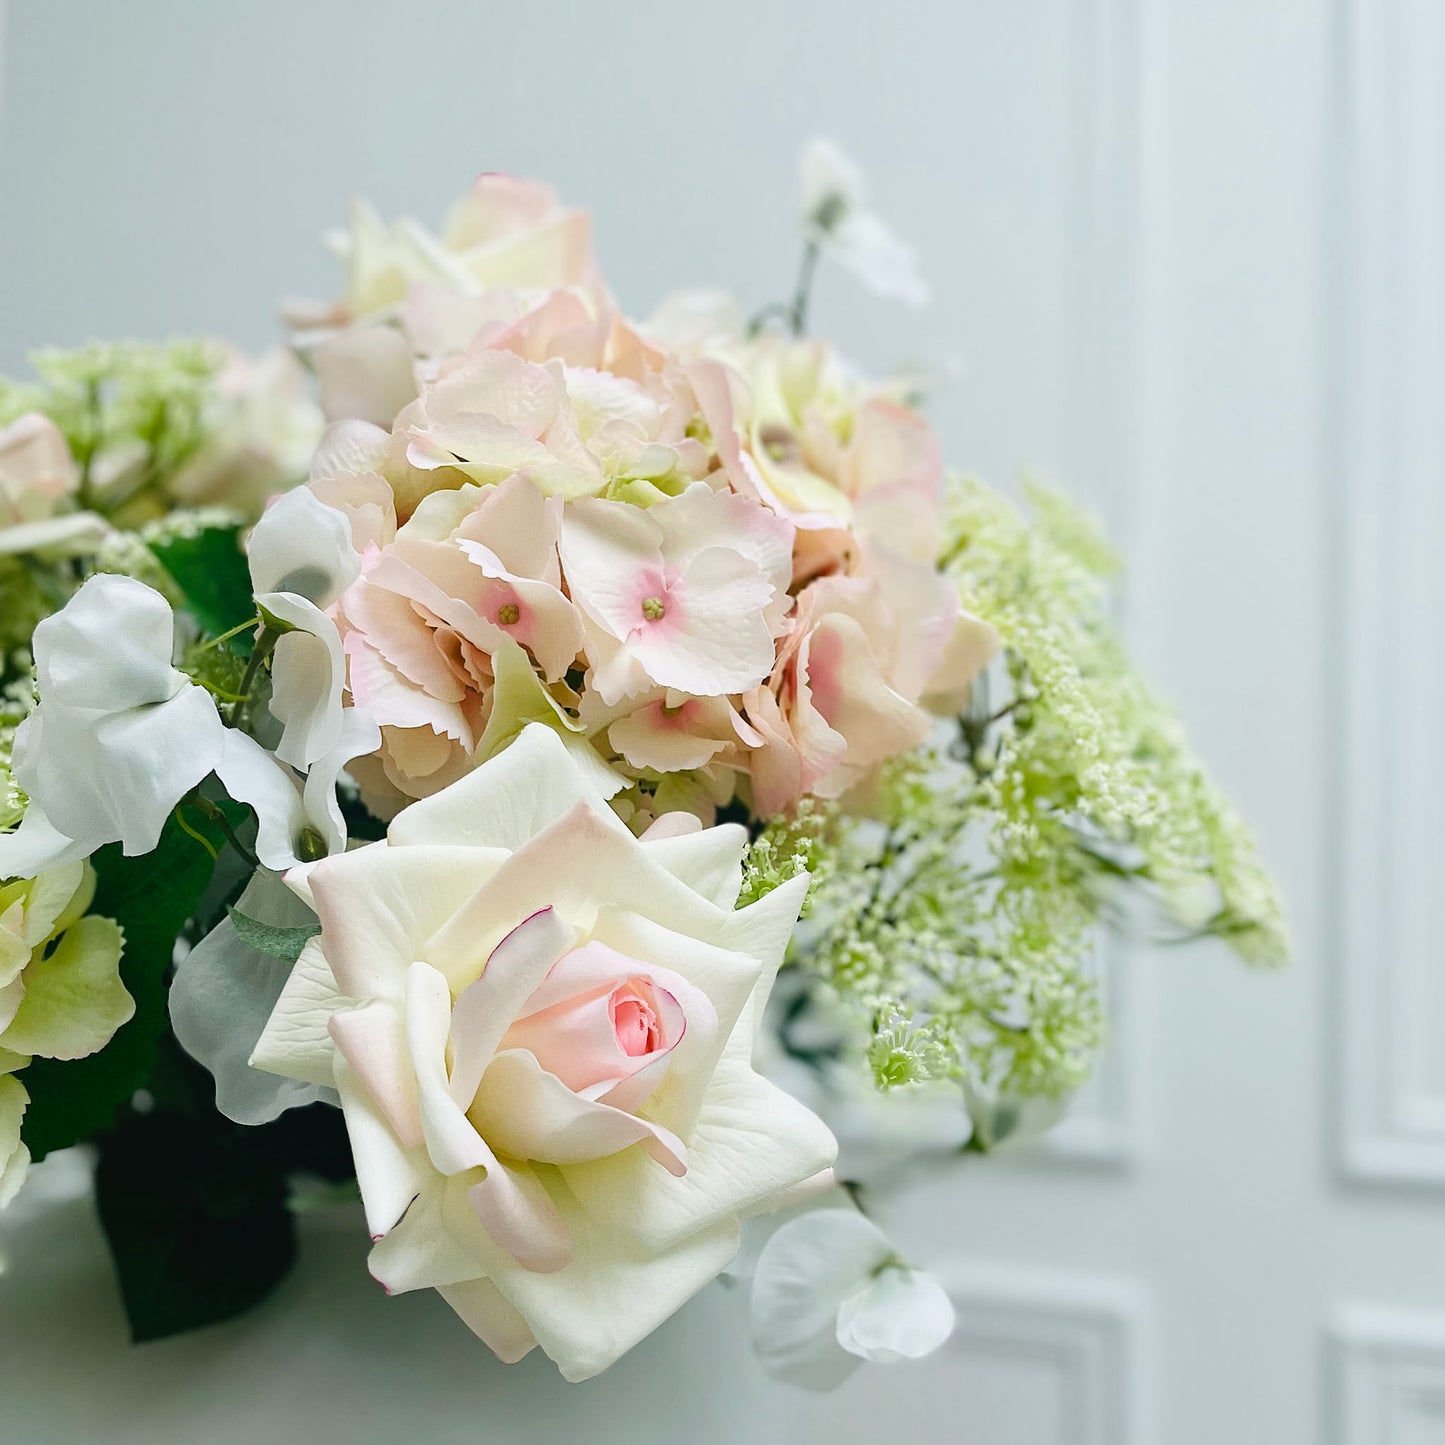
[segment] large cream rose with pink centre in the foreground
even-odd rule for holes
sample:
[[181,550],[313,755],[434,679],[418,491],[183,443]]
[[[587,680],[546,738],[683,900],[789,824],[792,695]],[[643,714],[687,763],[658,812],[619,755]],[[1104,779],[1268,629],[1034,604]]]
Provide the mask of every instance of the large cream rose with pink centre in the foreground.
[[806,880],[734,909],[744,847],[691,818],[634,838],[529,727],[289,874],[322,933],[251,1062],[340,1090],[389,1290],[587,1379],[831,1165],[751,1064]]

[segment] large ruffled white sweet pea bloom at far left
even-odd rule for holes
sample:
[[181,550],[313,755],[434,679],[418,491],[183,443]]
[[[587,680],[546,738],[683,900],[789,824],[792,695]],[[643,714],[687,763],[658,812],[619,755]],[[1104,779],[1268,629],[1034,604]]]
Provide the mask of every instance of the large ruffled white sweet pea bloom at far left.
[[[280,764],[227,728],[210,694],[171,663],[175,617],[144,582],[101,574],[35,629],[39,705],[16,730],[13,772],[29,805],[0,837],[0,877],[88,857],[107,842],[150,853],[171,811],[210,773],[233,798],[262,799],[263,834]],[[285,783],[289,775],[280,775]],[[289,783],[286,786],[290,786]],[[289,867],[293,847],[263,861]]]

